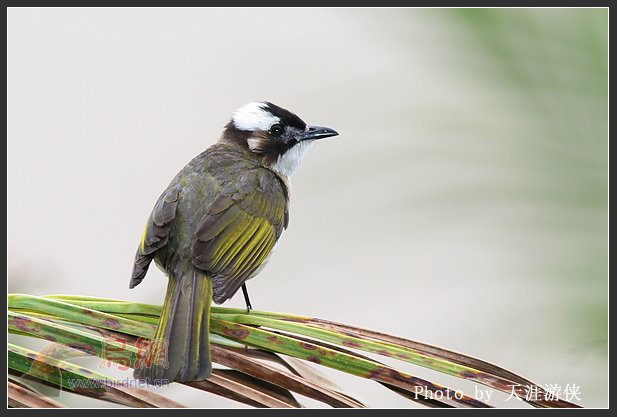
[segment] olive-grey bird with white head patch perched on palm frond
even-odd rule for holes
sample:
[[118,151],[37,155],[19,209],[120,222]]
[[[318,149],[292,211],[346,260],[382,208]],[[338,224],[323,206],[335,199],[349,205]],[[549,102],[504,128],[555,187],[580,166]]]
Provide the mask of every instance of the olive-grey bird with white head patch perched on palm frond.
[[290,177],[315,141],[337,135],[269,101],[251,102],[170,182],[148,217],[129,284],[141,283],[152,261],[168,277],[148,360],[134,366],[136,379],[210,376],[212,302],[242,288],[250,311],[246,280],[263,269],[287,229]]

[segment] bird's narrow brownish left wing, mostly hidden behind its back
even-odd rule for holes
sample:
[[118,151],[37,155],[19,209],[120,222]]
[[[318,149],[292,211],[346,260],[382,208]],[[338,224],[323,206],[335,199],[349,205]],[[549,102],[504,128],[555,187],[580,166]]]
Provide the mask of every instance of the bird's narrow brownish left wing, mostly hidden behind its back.
[[135,254],[133,275],[129,288],[133,288],[143,281],[155,252],[167,244],[171,225],[176,218],[178,195],[178,186],[169,188],[154,205]]

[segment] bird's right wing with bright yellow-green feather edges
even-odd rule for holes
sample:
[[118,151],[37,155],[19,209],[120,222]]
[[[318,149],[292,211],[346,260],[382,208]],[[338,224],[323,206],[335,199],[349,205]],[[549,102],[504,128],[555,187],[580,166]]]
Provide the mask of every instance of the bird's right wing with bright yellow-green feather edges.
[[287,226],[287,196],[273,176],[262,173],[256,183],[221,193],[197,227],[192,261],[212,273],[216,303],[258,272]]

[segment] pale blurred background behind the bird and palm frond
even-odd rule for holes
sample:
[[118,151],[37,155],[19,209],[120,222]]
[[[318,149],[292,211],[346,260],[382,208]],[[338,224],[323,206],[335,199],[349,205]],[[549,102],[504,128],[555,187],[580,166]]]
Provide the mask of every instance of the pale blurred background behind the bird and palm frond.
[[[607,9],[13,8],[7,25],[8,292],[160,304],[155,267],[128,289],[154,202],[236,108],[269,100],[340,136],[292,179],[255,308],[436,344],[608,406]],[[416,406],[320,370],[369,406]]]

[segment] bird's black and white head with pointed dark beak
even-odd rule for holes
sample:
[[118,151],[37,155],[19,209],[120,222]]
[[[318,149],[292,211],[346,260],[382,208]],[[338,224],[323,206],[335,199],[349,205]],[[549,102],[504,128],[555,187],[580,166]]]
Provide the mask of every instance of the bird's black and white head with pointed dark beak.
[[292,112],[262,101],[236,110],[221,142],[248,150],[265,166],[289,177],[316,140],[336,135],[334,129],[308,126]]

